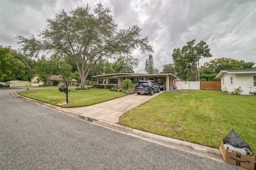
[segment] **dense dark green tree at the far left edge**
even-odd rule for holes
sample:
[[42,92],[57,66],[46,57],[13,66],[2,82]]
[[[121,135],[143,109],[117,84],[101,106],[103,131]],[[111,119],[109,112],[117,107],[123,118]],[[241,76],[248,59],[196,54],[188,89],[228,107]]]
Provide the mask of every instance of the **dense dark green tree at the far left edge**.
[[25,74],[24,69],[24,63],[14,57],[11,47],[0,45],[0,81],[21,79]]

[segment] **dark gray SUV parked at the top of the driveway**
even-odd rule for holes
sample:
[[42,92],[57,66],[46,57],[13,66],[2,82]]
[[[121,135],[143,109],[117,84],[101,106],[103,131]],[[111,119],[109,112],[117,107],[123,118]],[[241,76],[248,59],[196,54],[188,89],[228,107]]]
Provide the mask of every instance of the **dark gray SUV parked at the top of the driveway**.
[[136,85],[135,91],[138,95],[140,93],[149,93],[150,95],[153,95],[154,92],[159,93],[160,88],[154,80],[140,80]]

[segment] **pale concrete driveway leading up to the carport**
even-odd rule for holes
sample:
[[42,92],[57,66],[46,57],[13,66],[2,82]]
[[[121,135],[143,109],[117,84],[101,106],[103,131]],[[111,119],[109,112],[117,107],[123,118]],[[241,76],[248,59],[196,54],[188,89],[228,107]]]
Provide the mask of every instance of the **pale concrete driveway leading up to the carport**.
[[152,96],[149,94],[132,94],[118,99],[98,103],[92,106],[86,107],[76,107],[76,108],[66,108],[70,111],[86,115],[86,117],[92,117],[94,119],[100,119],[104,121],[109,121],[112,123],[118,123],[120,116],[122,114],[142,103],[155,97],[165,91],[160,91],[160,93],[154,93]]

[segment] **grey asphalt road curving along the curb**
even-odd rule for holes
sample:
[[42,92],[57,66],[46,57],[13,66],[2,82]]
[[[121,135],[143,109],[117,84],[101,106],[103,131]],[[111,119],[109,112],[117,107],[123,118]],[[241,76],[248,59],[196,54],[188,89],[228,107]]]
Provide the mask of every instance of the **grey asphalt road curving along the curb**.
[[239,170],[128,136],[0,90],[0,169]]

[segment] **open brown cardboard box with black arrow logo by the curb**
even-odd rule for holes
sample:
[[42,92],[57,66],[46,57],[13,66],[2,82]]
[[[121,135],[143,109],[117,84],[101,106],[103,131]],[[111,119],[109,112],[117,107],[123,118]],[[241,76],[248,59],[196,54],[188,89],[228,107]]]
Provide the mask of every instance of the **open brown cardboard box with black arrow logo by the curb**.
[[246,168],[248,170],[254,170],[254,156],[226,151],[223,140],[224,138],[221,138],[220,153],[222,154],[225,162]]

